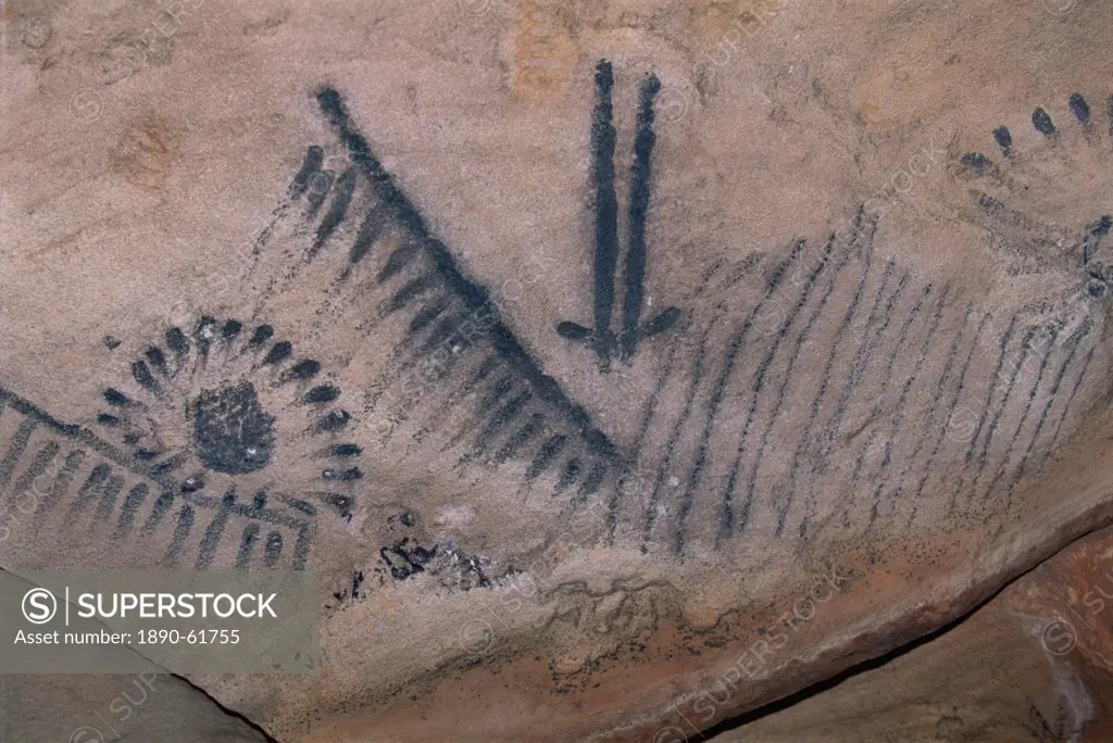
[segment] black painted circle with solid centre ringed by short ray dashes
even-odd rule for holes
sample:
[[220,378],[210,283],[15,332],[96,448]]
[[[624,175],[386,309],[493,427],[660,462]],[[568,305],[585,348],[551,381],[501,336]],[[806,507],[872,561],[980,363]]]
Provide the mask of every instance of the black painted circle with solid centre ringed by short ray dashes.
[[269,325],[203,317],[137,348],[130,378],[105,389],[97,424],[185,493],[311,496],[351,518],[344,493],[363,477],[362,449],[345,438],[342,397]]

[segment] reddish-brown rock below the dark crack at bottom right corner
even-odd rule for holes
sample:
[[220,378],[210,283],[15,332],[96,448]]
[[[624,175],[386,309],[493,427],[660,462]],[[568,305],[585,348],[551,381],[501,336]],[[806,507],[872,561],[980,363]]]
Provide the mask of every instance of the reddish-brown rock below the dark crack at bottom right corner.
[[710,740],[1109,740],[1111,544],[1090,535],[947,631]]

